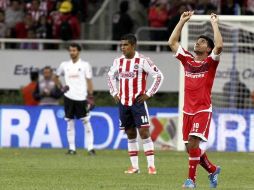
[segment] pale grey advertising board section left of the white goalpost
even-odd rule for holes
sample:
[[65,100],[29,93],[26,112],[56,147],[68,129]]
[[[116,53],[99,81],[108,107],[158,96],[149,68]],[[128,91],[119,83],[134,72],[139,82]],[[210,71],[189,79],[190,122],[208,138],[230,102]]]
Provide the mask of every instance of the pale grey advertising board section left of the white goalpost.
[[[93,82],[95,90],[108,91],[107,81],[105,80],[109,67],[113,64],[116,57],[120,56],[120,52],[114,51],[82,51],[80,57],[88,61],[93,70]],[[168,52],[156,53],[149,52],[146,54],[154,63],[166,74],[164,84],[160,91],[177,91],[178,89],[178,63],[176,59],[172,59],[169,63]],[[69,60],[67,51],[15,51],[5,50],[0,52],[1,57],[1,75],[0,89],[20,89],[29,83],[29,73],[31,70],[41,71],[45,66],[51,66],[54,70],[59,67],[62,61]],[[175,63],[175,64],[174,64]],[[149,82],[151,83],[152,80]],[[174,81],[171,85],[167,85],[170,81]]]

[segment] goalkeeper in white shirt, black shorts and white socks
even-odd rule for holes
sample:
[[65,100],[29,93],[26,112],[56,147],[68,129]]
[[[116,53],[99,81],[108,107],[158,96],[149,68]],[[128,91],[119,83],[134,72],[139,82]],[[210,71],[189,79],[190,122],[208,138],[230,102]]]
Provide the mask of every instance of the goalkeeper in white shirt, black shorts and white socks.
[[95,155],[93,149],[93,129],[90,123],[89,110],[94,105],[93,101],[93,83],[92,69],[88,62],[83,61],[79,57],[81,47],[78,44],[69,46],[71,60],[62,62],[57,69],[58,77],[64,75],[65,83],[68,88],[64,93],[64,111],[67,121],[67,139],[69,142],[69,150],[67,154],[76,154],[75,146],[75,126],[74,119],[81,119],[85,127],[86,145],[89,155]]

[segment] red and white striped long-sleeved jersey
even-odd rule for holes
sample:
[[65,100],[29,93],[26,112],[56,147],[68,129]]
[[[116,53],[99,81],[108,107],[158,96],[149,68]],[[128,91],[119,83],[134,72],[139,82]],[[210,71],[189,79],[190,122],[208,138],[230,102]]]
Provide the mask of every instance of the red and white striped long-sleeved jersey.
[[[146,91],[148,75],[154,80]],[[139,95],[153,96],[162,84],[163,75],[148,57],[135,52],[132,59],[126,59],[123,55],[115,59],[107,80],[110,94],[118,95],[123,105],[131,106]],[[116,87],[117,80],[119,80],[119,88]]]

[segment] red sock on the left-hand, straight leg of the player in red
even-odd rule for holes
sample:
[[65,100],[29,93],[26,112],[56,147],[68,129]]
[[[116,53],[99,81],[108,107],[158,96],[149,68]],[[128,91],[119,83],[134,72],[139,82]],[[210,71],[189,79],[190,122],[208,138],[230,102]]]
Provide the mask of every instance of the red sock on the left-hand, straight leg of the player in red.
[[189,179],[196,180],[197,166],[200,162],[200,148],[189,149]]

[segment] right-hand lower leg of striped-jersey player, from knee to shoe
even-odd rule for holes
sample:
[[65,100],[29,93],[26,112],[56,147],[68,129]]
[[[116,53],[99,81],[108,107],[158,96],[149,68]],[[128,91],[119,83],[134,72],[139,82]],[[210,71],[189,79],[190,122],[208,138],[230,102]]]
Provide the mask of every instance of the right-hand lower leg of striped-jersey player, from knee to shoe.
[[156,174],[156,169],[154,165],[154,144],[150,137],[150,131],[147,127],[140,127],[139,134],[143,142],[144,152],[147,158],[147,167],[149,174]]

